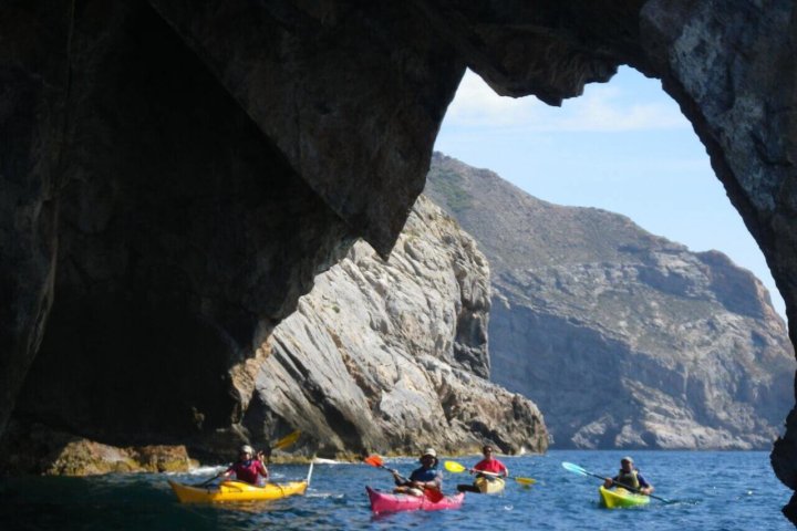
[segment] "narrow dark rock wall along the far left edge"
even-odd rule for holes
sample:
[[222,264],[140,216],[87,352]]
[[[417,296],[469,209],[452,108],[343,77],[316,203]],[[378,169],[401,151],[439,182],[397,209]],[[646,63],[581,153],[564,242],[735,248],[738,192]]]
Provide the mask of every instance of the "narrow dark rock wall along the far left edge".
[[65,8],[7,2],[0,17],[0,433],[52,304],[69,77]]

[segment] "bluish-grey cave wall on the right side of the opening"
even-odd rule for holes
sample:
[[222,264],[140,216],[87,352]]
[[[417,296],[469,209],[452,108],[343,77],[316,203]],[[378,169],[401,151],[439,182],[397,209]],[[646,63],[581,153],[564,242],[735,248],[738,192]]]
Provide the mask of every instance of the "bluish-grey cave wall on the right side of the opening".
[[[644,44],[664,90],[706,146],[728,198],[762,248],[786,300],[797,340],[797,9],[763,4],[652,1]],[[673,23],[675,22],[675,23]],[[795,409],[772,454],[777,477],[797,489]],[[797,523],[797,498],[786,508]]]

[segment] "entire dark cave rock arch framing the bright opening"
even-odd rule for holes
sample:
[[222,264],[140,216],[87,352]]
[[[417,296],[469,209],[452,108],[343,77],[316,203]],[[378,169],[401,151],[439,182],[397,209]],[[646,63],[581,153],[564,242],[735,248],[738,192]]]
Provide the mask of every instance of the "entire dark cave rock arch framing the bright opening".
[[[121,367],[139,376],[149,366],[147,392],[138,392],[144,413],[134,415],[147,429],[122,420],[123,431],[159,437],[237,419],[229,367],[253,354],[313,274],[352,237],[390,251],[466,64],[498,93],[555,104],[608,81],[619,64],[660,77],[706,145],[795,322],[794,10],[793,0],[3,2],[0,428],[42,348],[61,366],[77,366],[84,353],[86,367],[102,356],[127,363],[100,364],[92,381],[101,384],[80,389],[34,368],[27,414],[83,426],[61,418],[63,408],[34,407],[35,389],[49,384],[51,397],[84,395],[81,415],[105,427],[118,417],[100,405],[123,403],[114,395],[133,387],[107,382],[127,374]],[[211,202],[228,184],[257,202],[222,201],[239,209],[232,228],[259,235],[256,250],[232,235],[206,248],[208,229],[192,223],[209,207],[180,208],[184,192],[190,204]],[[241,219],[272,186],[301,188],[304,198],[273,197],[263,210],[281,223],[276,231]],[[236,218],[215,212],[217,225]],[[293,236],[303,214],[310,235]],[[182,249],[198,240],[199,251]],[[105,271],[86,267],[100,262]],[[108,315],[118,315],[118,333],[99,326]],[[141,346],[157,356],[138,362]],[[169,377],[155,375],[166,367]],[[205,393],[190,397],[197,375]],[[175,389],[189,395],[183,405],[173,404]],[[161,421],[165,405],[179,418]],[[794,489],[797,416],[789,418],[773,462]]]

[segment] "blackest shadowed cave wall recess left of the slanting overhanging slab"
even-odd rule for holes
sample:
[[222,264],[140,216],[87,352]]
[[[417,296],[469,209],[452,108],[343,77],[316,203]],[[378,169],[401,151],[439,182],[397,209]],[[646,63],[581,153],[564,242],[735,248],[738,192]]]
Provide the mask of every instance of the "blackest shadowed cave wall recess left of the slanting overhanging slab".
[[110,441],[227,427],[229,368],[349,228],[155,11],[76,21],[58,296],[15,414]]

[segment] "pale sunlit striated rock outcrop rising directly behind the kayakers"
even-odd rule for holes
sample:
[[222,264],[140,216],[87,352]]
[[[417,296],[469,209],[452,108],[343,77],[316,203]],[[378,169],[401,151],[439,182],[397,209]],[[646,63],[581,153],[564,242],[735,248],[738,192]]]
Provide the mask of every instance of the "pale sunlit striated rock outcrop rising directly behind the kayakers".
[[486,259],[422,196],[390,260],[356,243],[241,367],[244,428],[299,427],[324,455],[544,451],[537,407],[486,379],[489,301]]

